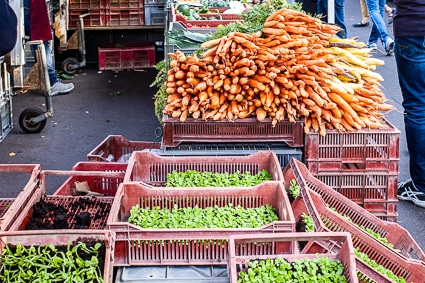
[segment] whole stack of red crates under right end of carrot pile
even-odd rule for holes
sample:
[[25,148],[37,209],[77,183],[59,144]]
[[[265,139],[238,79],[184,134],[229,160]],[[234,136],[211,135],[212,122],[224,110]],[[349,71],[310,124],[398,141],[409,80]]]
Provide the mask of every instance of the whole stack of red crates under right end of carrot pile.
[[304,163],[313,176],[353,202],[397,221],[400,131],[383,121],[381,129],[305,135]]

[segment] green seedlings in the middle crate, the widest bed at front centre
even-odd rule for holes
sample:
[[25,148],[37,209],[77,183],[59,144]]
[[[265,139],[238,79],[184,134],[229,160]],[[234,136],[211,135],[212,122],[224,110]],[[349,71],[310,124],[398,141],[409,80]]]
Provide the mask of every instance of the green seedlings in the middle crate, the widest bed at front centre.
[[259,228],[279,220],[273,206],[140,207],[130,210],[128,222],[142,228]]

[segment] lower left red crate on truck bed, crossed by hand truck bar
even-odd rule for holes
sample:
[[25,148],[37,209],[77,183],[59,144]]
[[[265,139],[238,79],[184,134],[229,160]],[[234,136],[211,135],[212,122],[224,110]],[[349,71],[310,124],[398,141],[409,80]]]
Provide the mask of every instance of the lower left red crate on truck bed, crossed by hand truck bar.
[[[76,28],[80,21],[79,16],[87,13],[87,9],[69,9],[68,10],[68,26],[70,28]],[[107,26],[106,10],[101,9],[90,9],[90,15],[83,18],[84,27],[105,27]]]

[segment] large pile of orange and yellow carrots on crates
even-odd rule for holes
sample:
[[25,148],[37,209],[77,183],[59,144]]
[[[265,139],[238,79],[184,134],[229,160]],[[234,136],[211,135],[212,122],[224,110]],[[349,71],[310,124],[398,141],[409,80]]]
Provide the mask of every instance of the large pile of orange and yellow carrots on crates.
[[380,128],[386,104],[374,70],[383,61],[339,28],[302,12],[271,14],[262,31],[204,42],[202,57],[169,56],[164,114],[195,119],[256,117],[273,125],[304,121],[304,131]]

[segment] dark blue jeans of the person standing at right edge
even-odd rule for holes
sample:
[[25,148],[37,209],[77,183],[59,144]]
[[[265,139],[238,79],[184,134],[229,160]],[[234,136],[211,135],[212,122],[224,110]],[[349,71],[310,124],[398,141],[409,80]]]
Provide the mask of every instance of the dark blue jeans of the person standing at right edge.
[[394,55],[403,95],[410,177],[425,193],[425,37],[395,37]]

